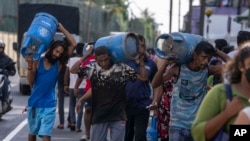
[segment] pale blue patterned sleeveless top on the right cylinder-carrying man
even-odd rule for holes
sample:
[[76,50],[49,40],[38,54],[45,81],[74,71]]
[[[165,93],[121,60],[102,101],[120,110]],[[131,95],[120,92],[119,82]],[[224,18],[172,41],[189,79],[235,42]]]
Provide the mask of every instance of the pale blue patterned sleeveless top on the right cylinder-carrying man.
[[197,110],[207,93],[208,69],[190,70],[186,64],[180,66],[174,84],[170,109],[170,126],[191,129]]

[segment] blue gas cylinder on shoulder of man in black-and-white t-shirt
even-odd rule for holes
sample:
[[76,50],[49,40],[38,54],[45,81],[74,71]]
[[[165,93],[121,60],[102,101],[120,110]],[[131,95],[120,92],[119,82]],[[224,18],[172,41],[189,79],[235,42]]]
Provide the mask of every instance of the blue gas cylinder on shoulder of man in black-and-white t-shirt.
[[139,39],[135,33],[121,33],[99,38],[94,48],[106,46],[114,62],[125,62],[137,58]]

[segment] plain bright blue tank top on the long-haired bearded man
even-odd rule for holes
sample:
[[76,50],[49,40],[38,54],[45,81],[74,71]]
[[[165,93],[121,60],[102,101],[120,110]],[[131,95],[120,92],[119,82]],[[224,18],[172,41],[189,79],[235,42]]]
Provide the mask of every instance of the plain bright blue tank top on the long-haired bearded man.
[[29,107],[56,107],[55,85],[58,79],[58,63],[48,70],[44,68],[44,58],[40,59],[35,81],[28,100]]

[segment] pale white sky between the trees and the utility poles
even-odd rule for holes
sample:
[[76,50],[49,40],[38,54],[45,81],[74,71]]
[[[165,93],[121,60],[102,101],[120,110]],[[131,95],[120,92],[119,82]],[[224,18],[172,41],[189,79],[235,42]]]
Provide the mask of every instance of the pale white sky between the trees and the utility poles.
[[[183,16],[187,13],[189,7],[189,0],[181,1],[180,13],[180,28],[182,28]],[[170,0],[129,0],[130,2],[130,16],[135,15],[141,17],[141,11],[148,9],[149,13],[154,14],[153,18],[159,24],[161,33],[169,33],[169,13],[170,13]],[[172,32],[179,31],[179,0],[173,0],[172,12]],[[132,11],[132,12],[131,12]]]

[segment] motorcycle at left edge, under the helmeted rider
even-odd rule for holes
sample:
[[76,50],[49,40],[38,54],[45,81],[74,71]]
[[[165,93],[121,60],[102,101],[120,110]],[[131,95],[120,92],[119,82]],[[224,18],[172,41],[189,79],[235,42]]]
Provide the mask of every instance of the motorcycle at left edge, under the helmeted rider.
[[8,66],[14,65],[15,62],[11,62],[8,65],[6,65],[3,68],[0,68],[0,118],[6,114],[7,112],[11,111],[12,107],[11,107],[11,103],[13,101],[13,97],[11,96],[11,83],[8,84],[8,99],[7,99],[7,109],[4,108],[4,102],[3,102],[3,93],[2,93],[2,89],[3,89],[3,84],[4,84],[4,77],[7,77],[8,79],[8,72],[5,69]]

